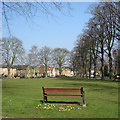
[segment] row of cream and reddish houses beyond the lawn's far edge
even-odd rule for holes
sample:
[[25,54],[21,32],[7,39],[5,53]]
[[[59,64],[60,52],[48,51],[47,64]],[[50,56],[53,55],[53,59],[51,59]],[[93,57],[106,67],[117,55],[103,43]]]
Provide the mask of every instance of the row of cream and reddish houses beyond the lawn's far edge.
[[[14,65],[12,68],[10,68],[10,76],[11,77],[41,77],[45,76],[45,67],[34,67],[29,65]],[[3,77],[8,77],[8,69],[6,65],[0,66],[0,75]],[[56,75],[59,75],[59,70],[54,67],[47,67],[47,76],[49,77],[55,77]],[[68,68],[62,68],[61,75],[65,76],[73,76],[73,71]]]

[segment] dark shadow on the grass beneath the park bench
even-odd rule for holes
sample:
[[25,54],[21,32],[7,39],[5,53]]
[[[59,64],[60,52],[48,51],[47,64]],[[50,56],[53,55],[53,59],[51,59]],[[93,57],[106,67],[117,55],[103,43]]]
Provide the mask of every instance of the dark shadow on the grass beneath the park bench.
[[[43,100],[40,100],[40,103],[43,103]],[[45,101],[48,104],[63,104],[63,105],[81,105],[79,102],[65,102],[65,101]]]

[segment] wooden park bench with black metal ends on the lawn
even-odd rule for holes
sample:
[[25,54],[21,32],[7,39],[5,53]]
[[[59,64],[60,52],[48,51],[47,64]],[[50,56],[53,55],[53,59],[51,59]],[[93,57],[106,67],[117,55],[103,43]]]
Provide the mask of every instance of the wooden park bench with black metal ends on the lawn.
[[85,103],[83,87],[81,88],[44,88],[43,103],[47,102],[47,96],[58,97],[82,97],[82,105]]

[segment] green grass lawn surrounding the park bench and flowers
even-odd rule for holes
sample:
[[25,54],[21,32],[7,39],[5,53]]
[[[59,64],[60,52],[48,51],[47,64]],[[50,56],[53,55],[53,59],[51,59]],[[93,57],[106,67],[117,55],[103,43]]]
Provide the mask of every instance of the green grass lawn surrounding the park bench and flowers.
[[[35,109],[44,87],[83,87],[87,107],[71,111]],[[82,102],[79,97],[48,97],[48,101]],[[2,116],[17,118],[118,118],[118,82],[74,77],[3,79]]]

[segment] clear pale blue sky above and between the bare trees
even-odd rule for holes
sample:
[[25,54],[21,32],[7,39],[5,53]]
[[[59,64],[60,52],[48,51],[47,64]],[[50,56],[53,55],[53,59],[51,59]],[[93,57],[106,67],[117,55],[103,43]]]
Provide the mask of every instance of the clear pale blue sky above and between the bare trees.
[[[67,48],[72,50],[77,36],[82,33],[91,17],[86,13],[92,2],[72,2],[73,10],[70,15],[63,15],[55,12],[56,17],[41,16],[35,17],[34,22],[27,22],[22,17],[14,17],[10,21],[12,34],[23,41],[23,47],[26,51],[33,45],[41,48],[48,46],[50,48]],[[3,24],[4,25],[4,24]],[[3,26],[3,37],[7,36]]]

